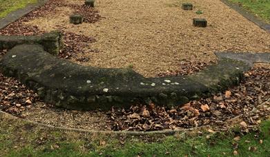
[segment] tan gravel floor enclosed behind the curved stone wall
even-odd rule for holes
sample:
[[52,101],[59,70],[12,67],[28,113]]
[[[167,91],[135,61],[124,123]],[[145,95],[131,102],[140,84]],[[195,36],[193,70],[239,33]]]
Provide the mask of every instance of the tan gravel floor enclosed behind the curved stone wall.
[[[221,1],[191,0],[195,9],[180,8],[186,1],[96,1],[103,17],[96,23],[72,25],[72,8],[59,7],[56,14],[28,21],[40,30],[63,29],[93,36],[97,41],[81,48],[71,60],[96,67],[133,67],[144,76],[175,71],[179,62],[215,61],[215,51],[270,52],[270,34]],[[84,1],[66,0],[83,4]],[[203,14],[196,14],[202,10]],[[193,18],[205,18],[207,28],[195,28]],[[97,50],[93,52],[93,50]],[[87,62],[76,61],[86,57]]]

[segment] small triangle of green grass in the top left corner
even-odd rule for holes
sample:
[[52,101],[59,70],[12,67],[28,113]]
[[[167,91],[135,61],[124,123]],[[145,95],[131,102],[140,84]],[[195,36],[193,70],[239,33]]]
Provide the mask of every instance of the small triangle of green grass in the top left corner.
[[25,8],[30,3],[37,3],[37,0],[0,0],[0,19],[14,10]]

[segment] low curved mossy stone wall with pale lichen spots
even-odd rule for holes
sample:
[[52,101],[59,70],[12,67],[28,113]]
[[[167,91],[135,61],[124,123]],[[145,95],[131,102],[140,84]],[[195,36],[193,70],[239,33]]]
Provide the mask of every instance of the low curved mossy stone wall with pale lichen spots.
[[225,90],[242,80],[243,62],[221,59],[190,76],[144,78],[132,69],[86,67],[58,59],[41,45],[17,45],[0,70],[37,91],[46,102],[68,109],[110,109],[133,103],[181,105]]

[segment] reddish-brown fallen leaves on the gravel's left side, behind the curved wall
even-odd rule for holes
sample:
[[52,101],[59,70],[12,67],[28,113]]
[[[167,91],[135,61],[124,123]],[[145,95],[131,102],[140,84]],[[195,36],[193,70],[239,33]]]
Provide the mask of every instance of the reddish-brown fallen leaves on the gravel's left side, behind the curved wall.
[[[44,17],[48,14],[54,14],[57,7],[73,8],[75,14],[81,14],[84,16],[85,23],[95,23],[102,17],[99,16],[98,11],[95,8],[91,8],[85,5],[69,4],[63,0],[55,1],[49,0],[44,6],[41,6],[24,17],[21,17],[18,21],[11,23],[6,28],[0,30],[1,35],[36,35],[43,34],[44,31],[39,30],[37,25],[25,25],[24,22],[36,19],[38,17]],[[64,48],[59,53],[59,56],[64,59],[70,59],[71,56],[76,56],[81,53],[81,48],[86,45],[95,42],[95,39],[90,36],[84,36],[82,34],[75,34],[73,32],[66,32],[64,27],[59,26],[59,31],[64,36]],[[95,50],[93,50],[95,52]],[[88,59],[77,59],[78,61],[88,61]]]

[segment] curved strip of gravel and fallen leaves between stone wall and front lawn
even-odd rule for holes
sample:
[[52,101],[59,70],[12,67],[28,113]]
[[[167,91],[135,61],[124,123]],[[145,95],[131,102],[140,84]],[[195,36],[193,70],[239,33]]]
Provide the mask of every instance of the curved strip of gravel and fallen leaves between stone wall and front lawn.
[[130,109],[112,108],[108,112],[81,112],[42,103],[35,92],[0,74],[0,109],[30,121],[80,129],[153,131],[203,125],[226,129],[228,126],[224,122],[233,118],[237,118],[233,121],[240,123],[243,129],[249,129],[269,116],[270,69],[254,67],[245,76],[246,81],[226,92],[170,109],[151,103]]

